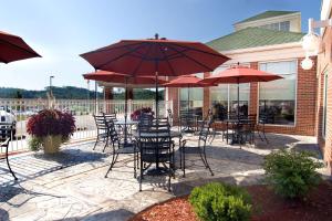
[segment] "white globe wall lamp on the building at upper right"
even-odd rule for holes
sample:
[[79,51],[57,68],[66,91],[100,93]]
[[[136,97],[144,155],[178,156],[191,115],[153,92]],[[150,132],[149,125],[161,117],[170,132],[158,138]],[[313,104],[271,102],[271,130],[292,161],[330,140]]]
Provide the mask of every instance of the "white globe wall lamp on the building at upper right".
[[313,61],[309,56],[315,56],[320,53],[322,46],[322,39],[319,34],[314,33],[314,29],[332,27],[332,19],[308,21],[308,34],[302,38],[302,49],[305,52],[305,59],[301,62],[303,70],[310,70],[313,66]]

